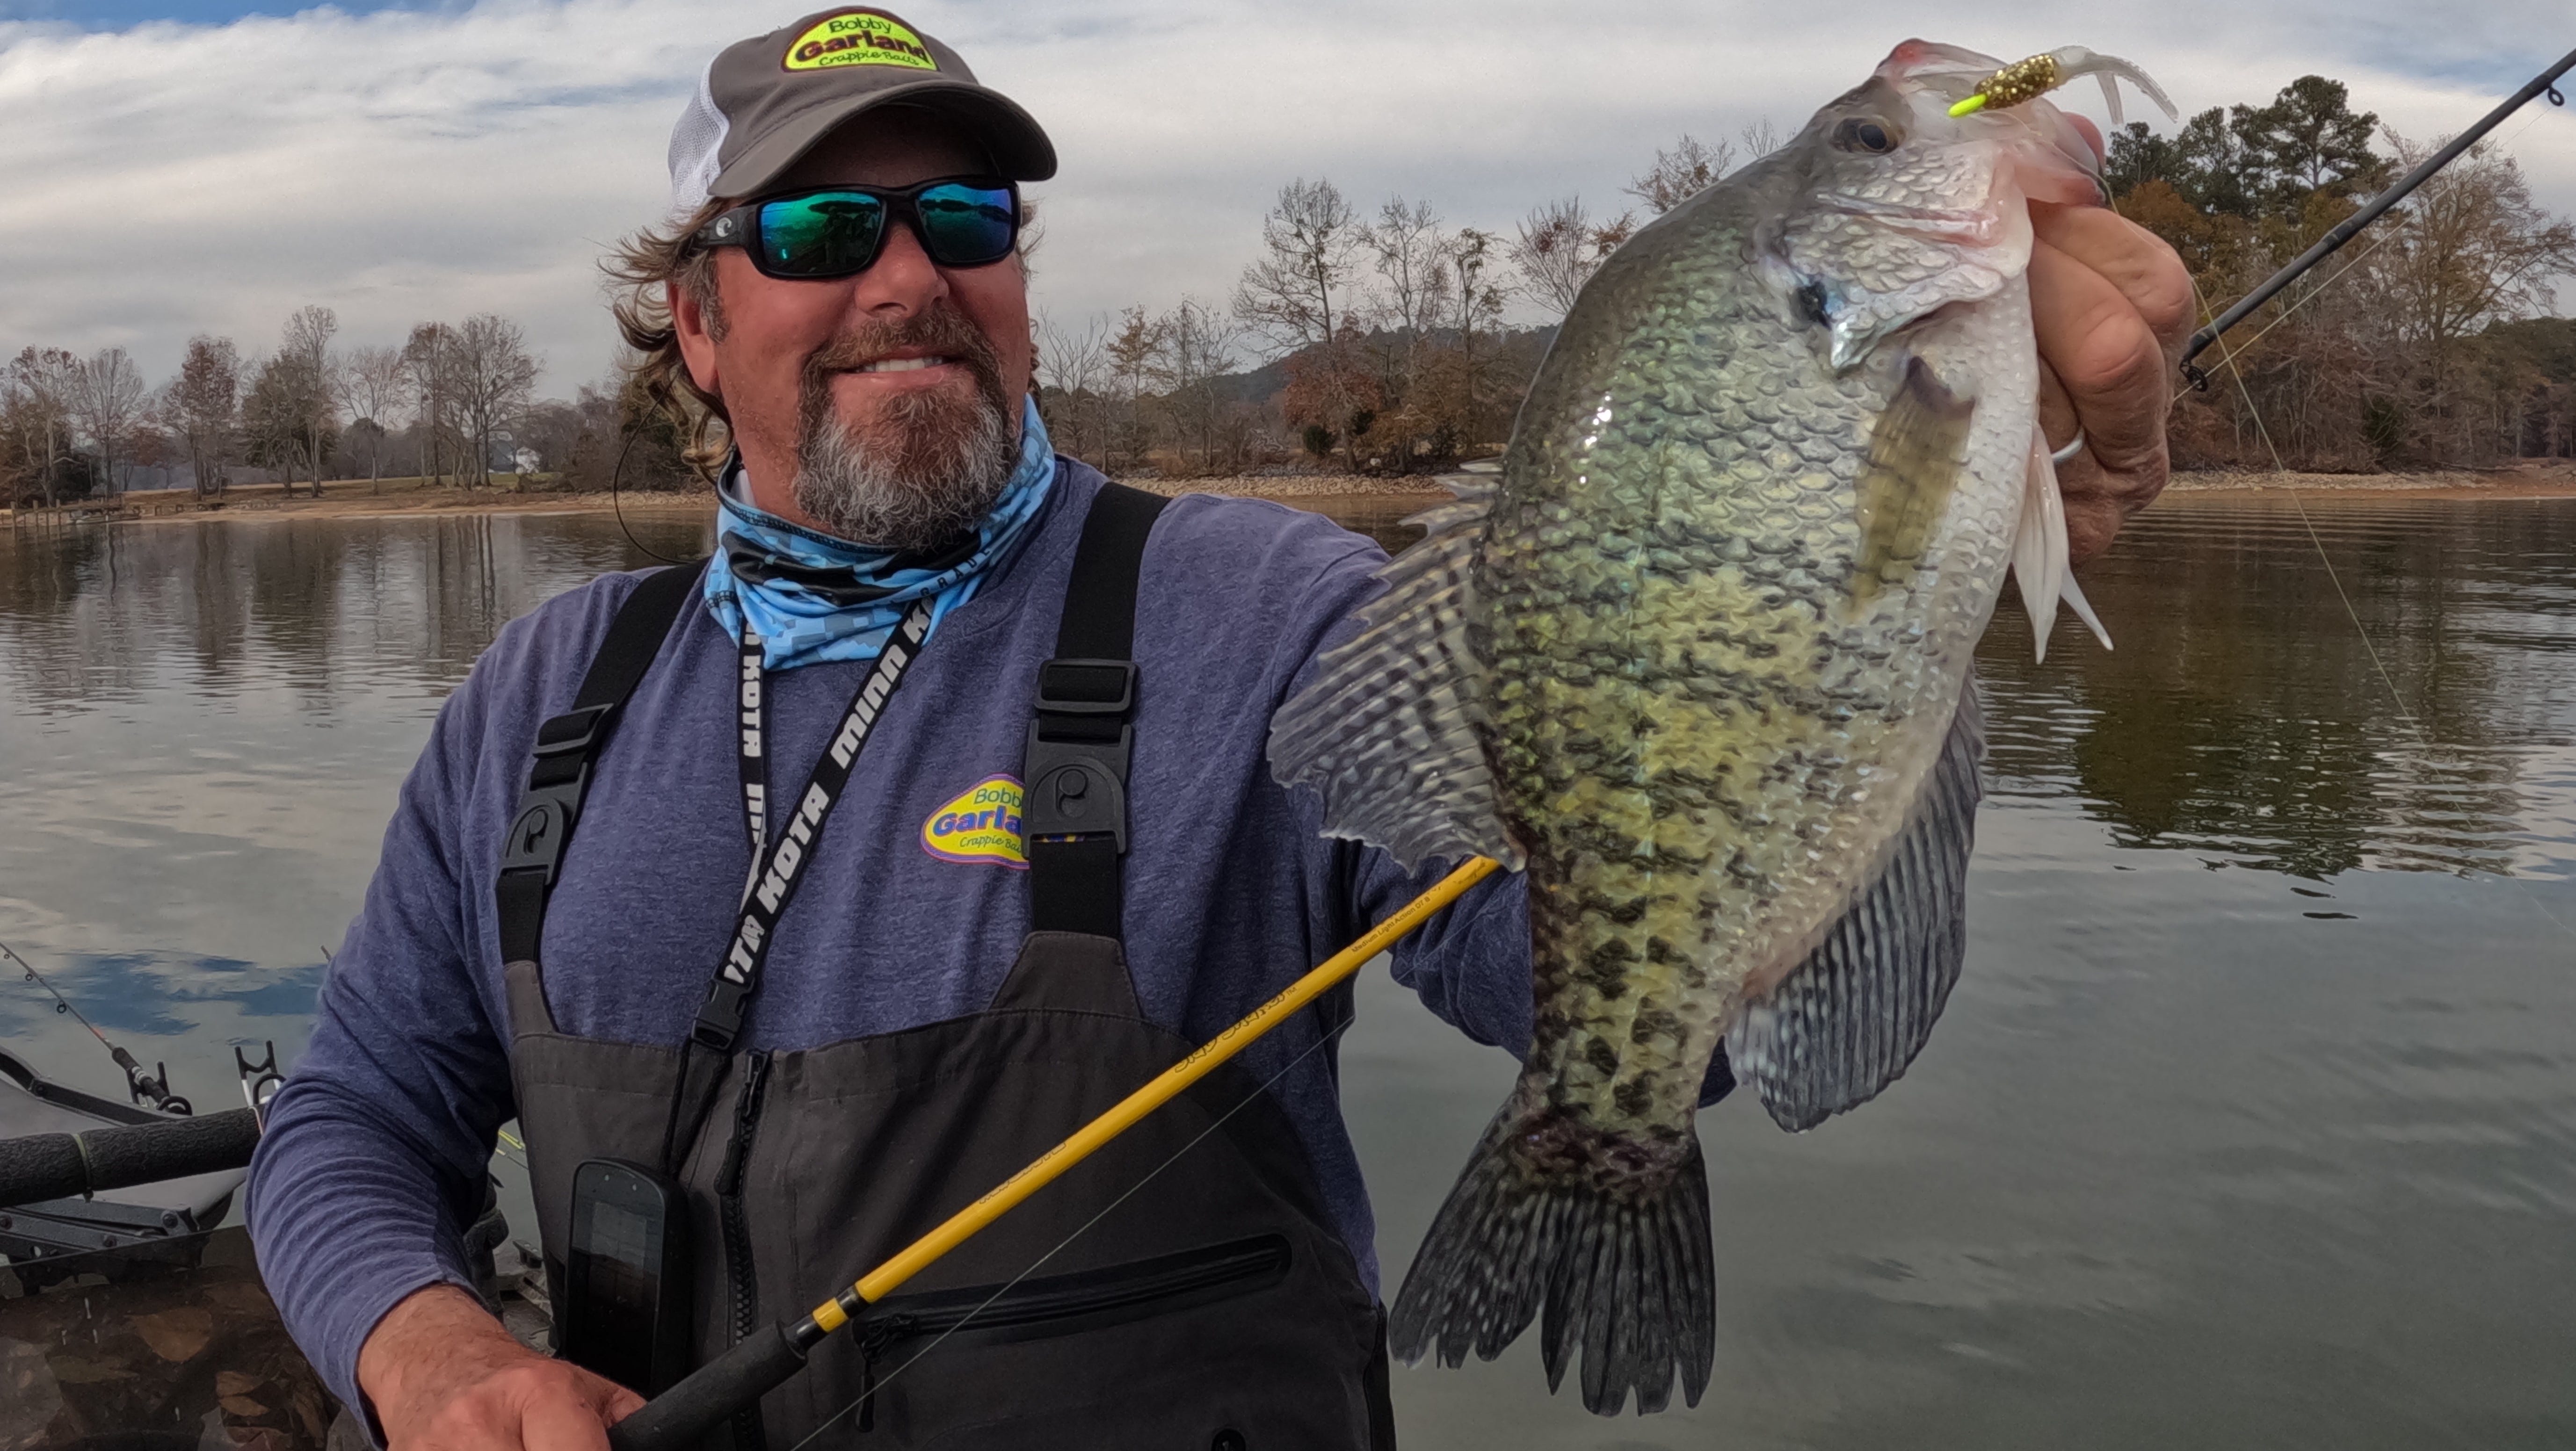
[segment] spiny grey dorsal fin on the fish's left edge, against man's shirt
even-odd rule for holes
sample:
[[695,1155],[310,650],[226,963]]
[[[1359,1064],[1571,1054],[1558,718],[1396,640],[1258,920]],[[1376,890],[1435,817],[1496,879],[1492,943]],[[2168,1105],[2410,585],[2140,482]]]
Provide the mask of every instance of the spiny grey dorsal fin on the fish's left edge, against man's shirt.
[[1327,835],[1383,845],[1406,871],[1466,856],[1520,869],[1476,742],[1481,668],[1466,631],[1494,479],[1440,482],[1458,500],[1406,521],[1430,533],[1378,570],[1386,593],[1360,606],[1360,634],[1327,649],[1270,722],[1270,773],[1321,791]]

